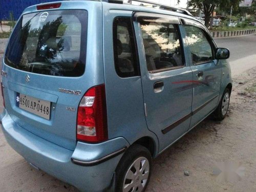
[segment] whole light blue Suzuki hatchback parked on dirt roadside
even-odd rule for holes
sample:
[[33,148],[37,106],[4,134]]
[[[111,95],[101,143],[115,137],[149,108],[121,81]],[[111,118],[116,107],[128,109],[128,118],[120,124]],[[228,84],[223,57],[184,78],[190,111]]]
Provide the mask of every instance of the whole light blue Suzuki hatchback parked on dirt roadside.
[[81,191],[145,190],[152,159],[228,111],[229,50],[187,11],[137,2],[29,7],[4,55],[6,140]]

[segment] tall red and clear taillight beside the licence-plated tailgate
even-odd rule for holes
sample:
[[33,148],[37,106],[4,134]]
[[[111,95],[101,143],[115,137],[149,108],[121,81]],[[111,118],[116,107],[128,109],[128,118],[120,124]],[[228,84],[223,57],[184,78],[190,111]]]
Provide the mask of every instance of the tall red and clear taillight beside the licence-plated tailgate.
[[89,89],[82,97],[76,129],[78,141],[101,142],[108,139],[104,84]]

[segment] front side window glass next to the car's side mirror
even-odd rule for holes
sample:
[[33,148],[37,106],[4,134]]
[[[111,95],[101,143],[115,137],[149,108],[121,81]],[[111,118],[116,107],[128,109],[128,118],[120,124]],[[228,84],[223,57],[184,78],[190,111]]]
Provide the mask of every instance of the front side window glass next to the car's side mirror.
[[194,65],[213,60],[213,51],[202,29],[185,26],[186,38]]

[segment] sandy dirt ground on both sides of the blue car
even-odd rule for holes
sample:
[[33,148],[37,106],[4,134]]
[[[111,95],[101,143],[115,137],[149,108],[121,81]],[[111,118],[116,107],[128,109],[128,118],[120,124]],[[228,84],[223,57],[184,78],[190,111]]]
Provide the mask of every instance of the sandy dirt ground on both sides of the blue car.
[[[256,191],[256,68],[233,78],[227,118],[204,120],[154,160],[149,191]],[[218,162],[241,162],[245,176],[218,182]],[[189,176],[184,175],[189,172]],[[0,191],[78,191],[32,168],[6,143],[0,129]]]

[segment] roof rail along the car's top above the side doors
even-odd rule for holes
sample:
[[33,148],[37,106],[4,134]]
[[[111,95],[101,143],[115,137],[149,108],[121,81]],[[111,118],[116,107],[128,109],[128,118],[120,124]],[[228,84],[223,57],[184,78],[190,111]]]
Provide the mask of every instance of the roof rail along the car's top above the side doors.
[[[123,4],[123,0],[102,0],[102,2]],[[193,16],[189,11],[187,11],[185,9],[180,9],[180,8],[177,8],[177,7],[171,7],[171,6],[167,6],[167,5],[159,4],[159,3],[154,3],[154,2],[150,2],[150,1],[127,0],[127,2],[128,2],[127,4],[132,4],[132,2],[139,2],[139,3],[142,3],[142,6],[143,6],[143,3],[150,4],[152,6],[155,6],[155,7],[159,8],[159,9],[163,9],[163,10],[167,10],[167,11],[174,11],[174,12],[178,12],[178,13],[181,13],[181,14]],[[155,8],[155,7],[153,7],[153,8]]]

